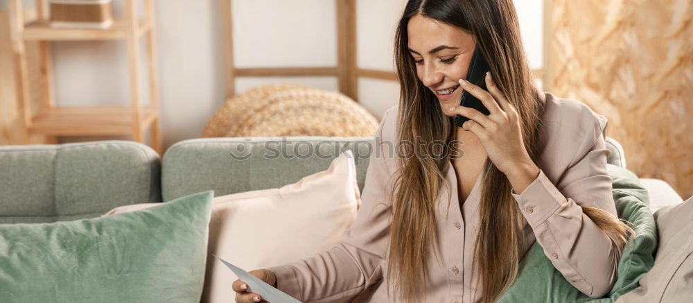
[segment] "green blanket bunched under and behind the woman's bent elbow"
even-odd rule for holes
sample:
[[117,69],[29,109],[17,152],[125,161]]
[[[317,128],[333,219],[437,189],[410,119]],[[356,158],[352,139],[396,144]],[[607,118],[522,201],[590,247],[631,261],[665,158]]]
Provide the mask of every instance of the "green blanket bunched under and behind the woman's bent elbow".
[[608,170],[613,179],[613,199],[618,215],[633,223],[636,233],[624,248],[611,291],[599,299],[581,293],[554,268],[535,242],[520,262],[518,279],[498,302],[614,302],[638,287],[640,278],[654,264],[657,227],[649,210],[647,190],[638,177],[620,166],[608,164]]

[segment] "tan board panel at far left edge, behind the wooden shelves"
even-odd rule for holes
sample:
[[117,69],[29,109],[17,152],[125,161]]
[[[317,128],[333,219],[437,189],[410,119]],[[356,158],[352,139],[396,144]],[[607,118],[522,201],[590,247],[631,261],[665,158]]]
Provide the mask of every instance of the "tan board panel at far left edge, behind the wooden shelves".
[[[35,12],[28,11],[27,18],[33,18]],[[8,11],[0,10],[0,144],[24,144],[21,136],[22,120],[17,107],[17,89],[15,87],[15,67],[12,63],[10,26]],[[32,112],[40,108],[44,90],[40,77],[39,48],[37,42],[26,44],[27,69],[29,71],[29,91],[32,99]],[[46,138],[32,136],[30,143],[44,144]]]

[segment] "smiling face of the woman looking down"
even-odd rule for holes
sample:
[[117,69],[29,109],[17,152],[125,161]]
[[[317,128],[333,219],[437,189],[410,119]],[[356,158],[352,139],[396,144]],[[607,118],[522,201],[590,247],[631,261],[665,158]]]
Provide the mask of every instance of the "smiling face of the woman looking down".
[[[416,75],[437,97],[448,116],[450,106],[459,105],[475,41],[471,33],[440,21],[416,15],[407,24],[409,51],[416,61]],[[450,91],[450,89],[454,89]]]

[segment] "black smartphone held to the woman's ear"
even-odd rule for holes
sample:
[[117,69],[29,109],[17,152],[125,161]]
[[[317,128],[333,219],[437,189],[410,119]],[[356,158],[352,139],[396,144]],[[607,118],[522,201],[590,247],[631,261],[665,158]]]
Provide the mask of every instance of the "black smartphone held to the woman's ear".
[[[485,80],[486,71],[491,71],[489,62],[486,61],[486,58],[484,58],[484,54],[482,54],[479,47],[475,47],[474,53],[472,54],[472,60],[469,62],[469,70],[467,71],[466,80],[478,87],[481,87],[482,89],[487,90]],[[466,90],[462,91],[462,98],[459,98],[459,105],[474,108],[486,116],[491,114],[489,109],[484,106],[484,103],[482,103],[479,98],[469,94]],[[469,118],[458,114],[455,116],[455,125],[461,128],[462,123],[466,122],[467,120],[469,120]]]

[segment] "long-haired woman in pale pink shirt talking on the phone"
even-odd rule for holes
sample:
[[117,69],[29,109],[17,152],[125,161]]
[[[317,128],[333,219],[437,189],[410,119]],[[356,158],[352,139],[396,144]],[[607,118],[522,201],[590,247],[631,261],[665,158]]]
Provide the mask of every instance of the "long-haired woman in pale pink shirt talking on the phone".
[[[488,92],[463,80],[475,48]],[[401,98],[378,128],[356,222],[326,252],[252,273],[308,302],[492,302],[537,241],[579,291],[606,294],[632,232],[611,195],[606,119],[534,87],[512,1],[411,0],[395,59]],[[463,90],[489,116],[459,106]],[[471,120],[458,128],[456,114]],[[392,148],[419,141],[446,144]],[[243,286],[236,302],[261,300]]]

